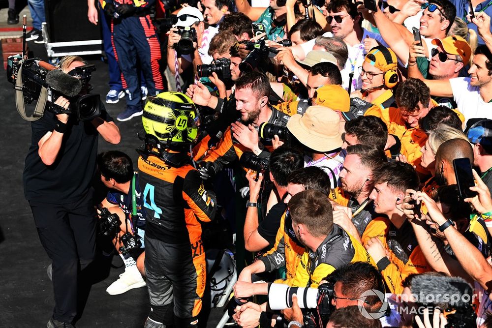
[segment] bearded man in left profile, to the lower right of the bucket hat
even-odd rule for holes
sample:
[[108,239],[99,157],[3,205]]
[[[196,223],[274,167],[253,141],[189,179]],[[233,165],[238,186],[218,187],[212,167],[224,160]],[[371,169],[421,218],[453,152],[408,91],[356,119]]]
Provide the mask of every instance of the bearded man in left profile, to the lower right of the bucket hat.
[[[387,228],[386,219],[374,211],[369,194],[372,191],[372,171],[387,162],[382,149],[369,145],[353,145],[347,147],[347,156],[340,172],[342,195],[348,198],[345,205],[350,211],[334,212],[334,222],[350,235],[367,242],[372,237],[384,236]],[[340,187],[339,187],[340,188]],[[338,203],[343,198],[338,198]],[[335,207],[338,209],[338,207]],[[351,217],[347,215],[351,213]]]

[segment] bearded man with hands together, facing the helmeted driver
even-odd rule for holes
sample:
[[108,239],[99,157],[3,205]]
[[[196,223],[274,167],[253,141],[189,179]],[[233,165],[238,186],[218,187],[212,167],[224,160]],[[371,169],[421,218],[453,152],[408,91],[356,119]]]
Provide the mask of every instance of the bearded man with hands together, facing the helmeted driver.
[[265,146],[271,145],[271,140],[262,139],[260,142],[257,132],[259,125],[268,122],[285,126],[289,119],[289,116],[269,104],[269,95],[270,82],[263,73],[249,72],[236,80],[236,110],[241,117],[225,130],[217,146],[200,163],[200,172],[204,179],[215,175],[224,165],[241,158],[245,151],[252,151],[260,157],[269,156]]

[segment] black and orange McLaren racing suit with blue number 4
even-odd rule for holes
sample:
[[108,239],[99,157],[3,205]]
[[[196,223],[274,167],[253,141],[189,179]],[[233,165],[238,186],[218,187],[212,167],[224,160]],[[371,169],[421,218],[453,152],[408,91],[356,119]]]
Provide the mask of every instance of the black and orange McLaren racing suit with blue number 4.
[[214,217],[215,194],[205,190],[198,171],[189,164],[171,167],[155,156],[140,156],[138,168],[147,210],[145,271],[151,305],[163,307],[174,301],[175,317],[194,318],[206,284],[198,220],[209,222]]

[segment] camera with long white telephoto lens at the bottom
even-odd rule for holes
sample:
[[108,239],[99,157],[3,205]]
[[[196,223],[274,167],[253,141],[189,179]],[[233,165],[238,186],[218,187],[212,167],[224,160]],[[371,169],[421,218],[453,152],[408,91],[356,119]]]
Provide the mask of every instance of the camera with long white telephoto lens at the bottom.
[[327,282],[318,288],[290,287],[285,284],[268,285],[268,307],[283,310],[292,307],[292,296],[297,295],[297,304],[303,309],[303,327],[326,327],[330,315],[335,311],[332,305],[334,283]]

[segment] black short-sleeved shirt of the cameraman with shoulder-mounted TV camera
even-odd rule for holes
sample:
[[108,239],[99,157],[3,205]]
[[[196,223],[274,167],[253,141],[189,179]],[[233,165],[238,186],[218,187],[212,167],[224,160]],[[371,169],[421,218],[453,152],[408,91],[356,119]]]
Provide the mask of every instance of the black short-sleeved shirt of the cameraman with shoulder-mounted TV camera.
[[[101,118],[113,121],[102,102]],[[32,141],[24,167],[24,194],[29,201],[67,204],[84,196],[95,173],[99,133],[91,121],[78,121],[70,115],[62,147],[55,163],[45,165],[39,157],[39,140],[55,129],[55,114],[45,111],[41,119],[31,122]]]

